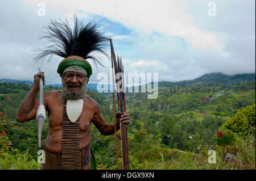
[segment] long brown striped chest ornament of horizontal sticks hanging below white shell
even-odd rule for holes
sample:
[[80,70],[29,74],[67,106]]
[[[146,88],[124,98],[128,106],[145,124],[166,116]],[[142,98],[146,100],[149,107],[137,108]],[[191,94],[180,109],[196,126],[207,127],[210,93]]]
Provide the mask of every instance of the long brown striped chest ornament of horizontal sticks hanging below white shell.
[[62,136],[62,154],[61,169],[79,170],[80,169],[80,119],[72,123],[67,115],[67,100],[63,102],[63,136]]

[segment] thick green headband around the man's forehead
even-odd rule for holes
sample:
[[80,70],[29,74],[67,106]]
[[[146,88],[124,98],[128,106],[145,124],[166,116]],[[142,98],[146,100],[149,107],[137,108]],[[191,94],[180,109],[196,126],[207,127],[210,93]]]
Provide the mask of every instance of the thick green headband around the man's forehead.
[[62,74],[63,71],[69,66],[79,66],[80,68],[85,69],[88,79],[90,78],[90,75],[92,75],[92,67],[90,66],[90,64],[84,60],[76,59],[61,62],[61,64],[58,66],[57,73]]

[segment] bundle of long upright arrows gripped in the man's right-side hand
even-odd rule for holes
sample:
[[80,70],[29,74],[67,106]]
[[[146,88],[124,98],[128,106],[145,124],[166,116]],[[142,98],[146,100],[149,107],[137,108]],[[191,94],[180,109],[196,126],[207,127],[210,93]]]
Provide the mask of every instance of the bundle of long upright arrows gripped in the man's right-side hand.
[[[122,65],[122,58],[117,56],[118,60],[115,58],[114,48],[112,44],[112,39],[110,40],[110,47],[111,47],[111,54],[112,54],[112,61],[114,64],[115,75],[117,74],[119,78],[115,79],[117,83],[117,99],[118,99],[118,110],[121,112],[126,111],[126,104],[125,104],[125,82],[123,79],[123,65]],[[112,66],[113,68],[113,66]],[[114,98],[114,96],[113,96]],[[115,113],[114,113],[115,117]],[[122,153],[122,169],[128,170],[129,169],[129,151],[128,151],[128,140],[127,140],[127,124],[122,124],[120,121],[120,129],[121,129],[121,153]]]

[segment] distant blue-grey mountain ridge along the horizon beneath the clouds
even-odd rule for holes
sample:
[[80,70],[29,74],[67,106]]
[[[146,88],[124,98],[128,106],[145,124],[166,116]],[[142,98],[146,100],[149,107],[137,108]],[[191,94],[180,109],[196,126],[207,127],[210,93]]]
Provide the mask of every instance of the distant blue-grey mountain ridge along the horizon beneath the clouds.
[[[225,75],[222,73],[210,73],[210,74],[204,74],[200,76],[199,78],[195,78],[190,81],[179,81],[179,82],[159,82],[159,86],[174,86],[174,85],[195,85],[195,86],[213,86],[220,83],[226,83],[227,85],[240,85],[240,83],[243,82],[251,82],[255,80],[255,73],[254,74],[237,74],[237,75]],[[27,83],[29,85],[32,85],[33,82],[31,81],[18,81],[14,79],[0,79],[0,82],[14,82],[14,83]],[[61,87],[60,84],[47,84],[44,86],[58,86]],[[108,86],[109,89],[112,86]],[[90,90],[97,90],[97,83],[88,83],[87,89]]]

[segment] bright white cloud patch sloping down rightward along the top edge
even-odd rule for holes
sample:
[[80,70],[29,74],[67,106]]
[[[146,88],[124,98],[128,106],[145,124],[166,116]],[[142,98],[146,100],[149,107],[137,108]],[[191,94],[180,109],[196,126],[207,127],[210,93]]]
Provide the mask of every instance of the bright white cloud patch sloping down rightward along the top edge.
[[[77,1],[76,9],[106,16],[134,31],[159,32],[183,37],[193,47],[221,49],[221,41],[212,32],[204,31],[187,13],[184,1]],[[207,15],[207,13],[205,13]]]

